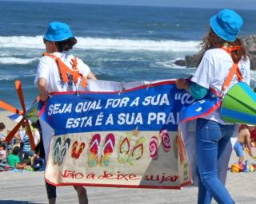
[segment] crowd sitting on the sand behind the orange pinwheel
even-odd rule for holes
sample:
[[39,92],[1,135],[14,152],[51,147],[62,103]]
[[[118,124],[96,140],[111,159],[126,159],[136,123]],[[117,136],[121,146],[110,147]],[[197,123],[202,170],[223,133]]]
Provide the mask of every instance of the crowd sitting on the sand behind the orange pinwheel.
[[34,150],[30,147],[26,124],[22,124],[22,127],[7,143],[6,135],[3,133],[6,126],[0,123],[0,171],[43,171],[45,169],[45,159],[39,156],[42,151],[39,122],[30,123],[30,128],[36,145]]

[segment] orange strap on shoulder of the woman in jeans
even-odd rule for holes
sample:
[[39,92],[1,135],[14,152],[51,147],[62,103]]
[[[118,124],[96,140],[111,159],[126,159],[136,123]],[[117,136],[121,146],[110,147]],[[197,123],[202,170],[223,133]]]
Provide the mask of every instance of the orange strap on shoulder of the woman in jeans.
[[[238,50],[241,49],[240,46],[233,46],[233,47],[222,47],[222,49],[224,49],[227,53],[229,53],[231,55],[231,52],[234,50]],[[226,80],[224,81],[223,85],[222,85],[222,91],[225,92],[226,88],[229,87],[231,80],[234,77],[234,74],[236,74],[236,76],[238,77],[238,81],[242,80],[242,73],[238,67],[238,63],[233,63],[231,69],[230,69],[230,73],[228,73]]]

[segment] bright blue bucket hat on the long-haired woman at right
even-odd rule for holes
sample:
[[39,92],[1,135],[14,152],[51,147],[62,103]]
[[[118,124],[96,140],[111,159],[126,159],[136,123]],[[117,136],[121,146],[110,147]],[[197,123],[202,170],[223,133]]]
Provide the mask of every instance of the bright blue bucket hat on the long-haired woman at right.
[[242,17],[234,10],[221,10],[210,18],[210,26],[214,33],[225,41],[234,41],[242,27]]

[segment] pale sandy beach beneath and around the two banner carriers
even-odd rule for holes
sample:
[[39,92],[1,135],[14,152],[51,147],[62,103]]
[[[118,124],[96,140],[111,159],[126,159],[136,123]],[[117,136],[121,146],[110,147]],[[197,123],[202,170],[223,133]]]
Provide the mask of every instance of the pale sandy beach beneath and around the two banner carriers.
[[[6,116],[10,112],[0,112],[0,122],[6,124],[6,130],[11,130],[15,122]],[[250,159],[246,155],[246,159]],[[230,164],[237,161],[232,153]],[[0,204],[33,204],[47,203],[43,172],[0,172]],[[255,203],[256,172],[231,173],[228,172],[226,186],[234,198],[235,203]],[[186,187],[182,190],[152,190],[87,187],[90,204],[106,203],[197,203],[197,188]],[[58,187],[58,203],[78,203],[78,198],[72,186]],[[215,203],[215,202],[214,202]]]

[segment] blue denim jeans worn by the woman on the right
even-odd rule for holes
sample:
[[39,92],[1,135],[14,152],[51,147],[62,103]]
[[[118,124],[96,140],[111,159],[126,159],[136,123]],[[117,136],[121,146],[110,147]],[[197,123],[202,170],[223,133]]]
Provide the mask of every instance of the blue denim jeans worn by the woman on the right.
[[218,179],[218,158],[233,132],[234,125],[222,125],[202,118],[197,121],[198,204],[211,203],[212,197],[218,203],[234,203]]

